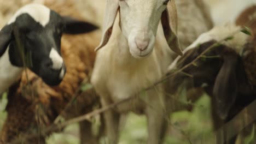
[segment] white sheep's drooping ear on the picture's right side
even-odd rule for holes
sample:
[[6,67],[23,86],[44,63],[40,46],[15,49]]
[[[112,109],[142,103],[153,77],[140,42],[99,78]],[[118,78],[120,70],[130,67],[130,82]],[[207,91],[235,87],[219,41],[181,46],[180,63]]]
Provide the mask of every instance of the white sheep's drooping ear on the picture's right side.
[[166,10],[162,12],[161,22],[167,44],[171,50],[182,56],[183,53],[179,46],[179,39],[177,37],[178,16],[174,0],[168,2]]

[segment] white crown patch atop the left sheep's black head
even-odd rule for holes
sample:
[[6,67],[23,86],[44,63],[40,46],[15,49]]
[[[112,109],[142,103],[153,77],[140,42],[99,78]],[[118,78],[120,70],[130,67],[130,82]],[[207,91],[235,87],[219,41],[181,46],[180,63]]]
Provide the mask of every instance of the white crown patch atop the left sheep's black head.
[[14,16],[7,23],[13,23],[16,17],[21,14],[29,14],[35,21],[39,22],[43,27],[50,21],[50,9],[40,4],[28,4],[25,7],[19,9]]

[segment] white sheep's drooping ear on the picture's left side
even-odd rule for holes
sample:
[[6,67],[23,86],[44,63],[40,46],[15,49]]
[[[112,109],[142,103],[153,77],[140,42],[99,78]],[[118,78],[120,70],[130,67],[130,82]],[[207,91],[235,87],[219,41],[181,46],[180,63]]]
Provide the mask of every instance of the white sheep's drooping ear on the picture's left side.
[[101,43],[95,49],[101,49],[104,45],[108,43],[110,35],[112,34],[112,28],[114,25],[115,17],[117,16],[118,8],[119,8],[119,0],[107,0],[106,10],[103,22],[103,33],[101,38]]

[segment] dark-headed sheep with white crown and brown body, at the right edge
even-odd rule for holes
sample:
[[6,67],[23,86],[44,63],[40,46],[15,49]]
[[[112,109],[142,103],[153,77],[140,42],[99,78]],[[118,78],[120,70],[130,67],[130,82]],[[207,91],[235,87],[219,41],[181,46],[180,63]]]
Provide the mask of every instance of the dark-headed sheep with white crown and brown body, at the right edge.
[[[206,56],[219,56],[219,58],[207,58],[206,61],[199,59],[196,62],[197,66],[190,65],[184,69],[185,73],[193,75],[192,86],[201,87],[203,83],[207,83],[204,89],[211,96],[213,125],[216,130],[231,121],[237,113],[255,100],[253,79],[255,77],[253,71],[256,48],[254,45],[255,17],[253,17],[255,8],[255,6],[249,7],[238,16],[238,26],[228,23],[201,34],[193,44],[183,51],[185,56],[180,59],[181,64],[178,65],[178,68],[183,67],[216,41],[228,38],[205,54]],[[250,23],[251,25],[249,25]],[[245,34],[244,31],[241,32],[242,26],[251,28],[252,36]],[[176,68],[178,61],[179,58],[172,63],[169,69]],[[181,74],[174,81],[181,82],[184,79],[188,80],[189,78]],[[252,111],[247,112],[246,114],[250,115]],[[237,126],[234,125],[234,127]],[[235,143],[236,136],[237,134],[230,137],[225,129],[222,137],[218,137],[217,143],[224,141],[224,143]]]

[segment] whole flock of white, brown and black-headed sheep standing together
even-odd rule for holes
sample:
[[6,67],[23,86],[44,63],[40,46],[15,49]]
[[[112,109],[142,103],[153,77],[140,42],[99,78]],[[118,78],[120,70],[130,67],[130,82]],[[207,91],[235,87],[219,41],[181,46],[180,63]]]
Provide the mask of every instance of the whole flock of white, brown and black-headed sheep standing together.
[[188,100],[210,96],[217,143],[248,135],[251,109],[251,123],[229,127],[237,133],[223,127],[255,100],[256,5],[213,27],[201,0],[107,0],[101,26],[95,11],[102,9],[89,8],[85,22],[75,1],[35,3],[0,31],[0,93],[8,91],[0,143],[45,143],[50,133],[41,129],[60,115],[67,120],[125,99],[102,113],[97,136],[90,121],[79,122],[80,142],[106,136],[118,143],[121,117],[132,111],[147,116],[147,143],[162,143],[166,117],[191,108],[177,101],[184,83]]

